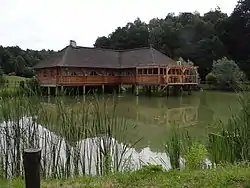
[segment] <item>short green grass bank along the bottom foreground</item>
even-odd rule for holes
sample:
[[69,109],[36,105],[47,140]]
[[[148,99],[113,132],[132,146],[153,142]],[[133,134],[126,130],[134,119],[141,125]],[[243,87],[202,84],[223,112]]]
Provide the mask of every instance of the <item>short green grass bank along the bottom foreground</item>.
[[[42,181],[42,187],[249,187],[250,167],[226,165],[216,169],[163,172],[158,167],[146,167],[134,173],[105,177],[82,177],[67,180]],[[23,180],[2,181],[0,187],[24,188]]]

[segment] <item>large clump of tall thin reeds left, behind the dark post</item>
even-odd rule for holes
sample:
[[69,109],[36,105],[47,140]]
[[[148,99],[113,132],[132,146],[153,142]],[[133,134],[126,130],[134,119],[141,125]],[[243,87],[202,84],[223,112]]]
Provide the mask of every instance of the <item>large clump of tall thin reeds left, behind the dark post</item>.
[[63,97],[54,104],[42,103],[38,96],[1,100],[0,171],[5,178],[22,176],[22,152],[27,147],[42,149],[43,178],[127,170],[128,150],[136,142],[122,143],[129,126],[115,109],[115,100],[110,110],[98,97],[77,105],[65,104]]

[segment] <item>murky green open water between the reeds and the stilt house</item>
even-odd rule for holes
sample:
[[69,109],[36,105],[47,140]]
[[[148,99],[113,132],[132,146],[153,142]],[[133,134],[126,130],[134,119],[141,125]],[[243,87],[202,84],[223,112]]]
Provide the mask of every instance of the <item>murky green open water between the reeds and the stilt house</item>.
[[[66,100],[71,104],[78,101],[79,104],[83,99]],[[112,96],[99,100],[104,100],[108,106],[114,103]],[[117,99],[116,115],[126,119],[130,141],[142,138],[136,145],[137,150],[149,147],[161,152],[171,134],[171,126],[188,130],[192,137],[205,140],[208,132],[218,130],[216,122],[226,122],[239,109],[236,93],[203,91],[169,98],[122,94]]]

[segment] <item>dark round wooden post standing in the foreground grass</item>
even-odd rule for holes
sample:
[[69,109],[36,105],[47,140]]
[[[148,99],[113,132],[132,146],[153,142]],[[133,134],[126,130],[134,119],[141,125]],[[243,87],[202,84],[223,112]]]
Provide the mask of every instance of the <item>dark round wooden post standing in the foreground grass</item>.
[[25,187],[40,188],[41,149],[26,149],[23,154]]

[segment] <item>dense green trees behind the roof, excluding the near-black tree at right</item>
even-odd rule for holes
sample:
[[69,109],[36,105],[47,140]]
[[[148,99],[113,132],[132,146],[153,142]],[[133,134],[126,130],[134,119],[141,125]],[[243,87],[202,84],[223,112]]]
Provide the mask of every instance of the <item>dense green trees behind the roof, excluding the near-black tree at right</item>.
[[124,50],[152,45],[175,60],[183,57],[194,62],[199,66],[201,79],[205,80],[214,59],[230,58],[223,42],[228,19],[219,8],[204,16],[198,12],[169,13],[164,19],[151,19],[148,24],[137,18],[110,35],[99,37],[95,46]]

